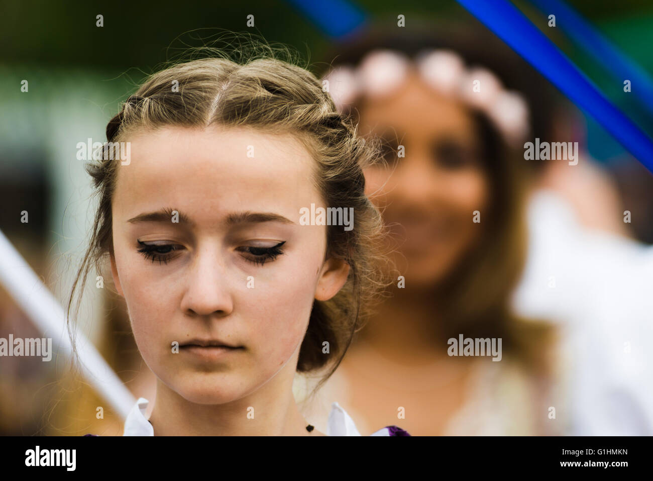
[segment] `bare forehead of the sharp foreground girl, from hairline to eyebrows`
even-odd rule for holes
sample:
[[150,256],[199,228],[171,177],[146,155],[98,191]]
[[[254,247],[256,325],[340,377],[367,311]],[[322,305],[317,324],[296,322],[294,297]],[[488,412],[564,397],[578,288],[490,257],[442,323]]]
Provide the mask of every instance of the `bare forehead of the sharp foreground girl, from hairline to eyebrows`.
[[131,161],[119,165],[113,202],[125,215],[181,205],[195,212],[275,207],[289,215],[319,197],[315,161],[290,135],[171,127],[126,141]]

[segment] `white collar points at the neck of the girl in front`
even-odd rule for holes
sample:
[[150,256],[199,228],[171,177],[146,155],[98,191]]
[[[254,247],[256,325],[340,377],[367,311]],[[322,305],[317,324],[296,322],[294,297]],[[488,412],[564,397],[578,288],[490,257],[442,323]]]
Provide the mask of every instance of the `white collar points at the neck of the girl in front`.
[[[139,397],[138,401],[125,420],[125,431],[123,436],[153,436],[154,428],[145,418],[145,410],[148,401]],[[338,404],[332,403],[331,412],[328,415],[327,436],[360,436],[358,429],[347,412]],[[388,430],[384,427],[379,429],[372,436],[388,436]]]

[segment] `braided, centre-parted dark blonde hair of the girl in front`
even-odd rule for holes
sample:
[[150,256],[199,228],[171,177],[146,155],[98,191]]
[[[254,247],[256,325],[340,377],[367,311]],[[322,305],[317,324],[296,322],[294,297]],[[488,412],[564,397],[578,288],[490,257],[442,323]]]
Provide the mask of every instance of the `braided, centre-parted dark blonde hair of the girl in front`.
[[[362,173],[379,156],[379,143],[358,137],[357,125],[338,114],[319,80],[296,65],[296,58],[287,49],[256,41],[246,42],[245,47],[240,42],[239,60],[229,58],[225,50],[194,50],[202,58],[153,73],[108,122],[106,137],[117,145],[135,131],[164,125],[246,126],[268,133],[290,133],[306,146],[315,159],[312,181],[327,206],[353,208],[356,219],[350,231],[327,226],[325,259],[343,259],[350,271],[342,290],[332,299],[313,301],[300,347],[300,373],[333,363],[317,390],[342,361],[353,335],[370,312],[370,301],[389,284],[381,274],[384,270],[379,269],[379,263],[388,262],[387,256],[377,250],[381,248],[383,222],[364,193]],[[247,49],[253,54],[244,54]],[[212,55],[207,57],[207,52]],[[178,91],[173,91],[173,84],[178,85]],[[84,285],[91,265],[100,272],[103,260],[113,249],[111,200],[119,158],[107,157],[109,160],[96,160],[86,166],[99,205],[90,244],[72,287],[69,312],[80,279]],[[323,354],[325,341],[328,355]]]

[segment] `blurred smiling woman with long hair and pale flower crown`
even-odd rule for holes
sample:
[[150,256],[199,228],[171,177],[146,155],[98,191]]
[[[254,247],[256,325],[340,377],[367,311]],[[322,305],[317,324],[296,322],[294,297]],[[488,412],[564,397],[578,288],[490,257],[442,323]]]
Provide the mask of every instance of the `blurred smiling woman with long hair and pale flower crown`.
[[[365,176],[398,275],[327,390],[304,403],[317,412],[337,395],[363,434],[397,417],[413,435],[554,434],[567,423],[555,333],[510,308],[526,248],[522,145],[552,105],[507,88],[507,75],[479,65],[481,50],[452,35],[372,34],[341,47],[325,76],[343,112],[387,146]],[[466,339],[498,352],[469,356]]]

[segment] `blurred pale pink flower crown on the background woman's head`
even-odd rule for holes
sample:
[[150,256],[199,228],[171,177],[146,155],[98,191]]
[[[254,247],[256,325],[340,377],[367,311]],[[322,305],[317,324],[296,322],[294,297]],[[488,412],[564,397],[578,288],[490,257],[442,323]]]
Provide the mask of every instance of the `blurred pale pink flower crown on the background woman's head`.
[[[331,98],[342,113],[362,95],[380,97],[398,89],[413,65],[432,88],[484,112],[508,144],[518,146],[528,135],[528,105],[522,95],[504,90],[502,82],[487,69],[466,69],[462,58],[451,50],[422,51],[414,63],[394,50],[373,50],[358,67],[339,65],[323,80],[328,80]],[[475,80],[479,80],[477,91],[473,88]]]

